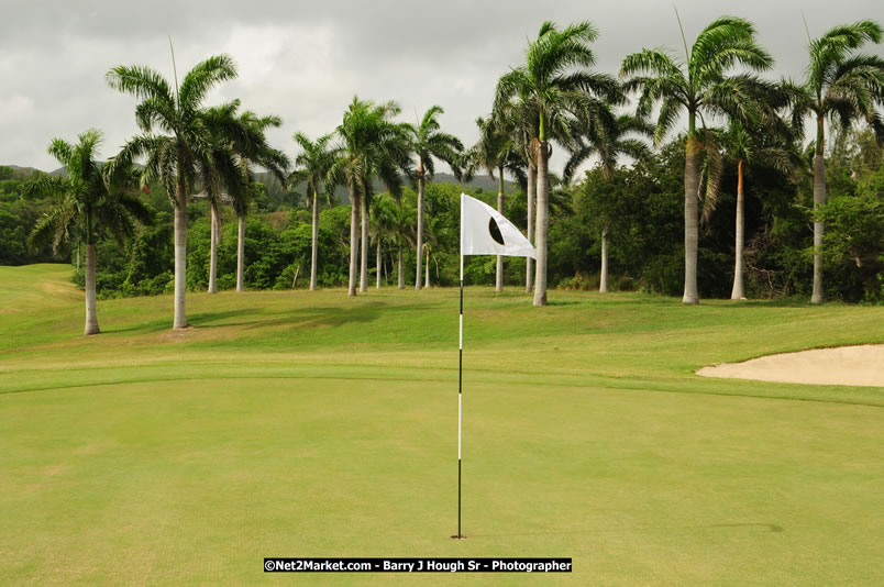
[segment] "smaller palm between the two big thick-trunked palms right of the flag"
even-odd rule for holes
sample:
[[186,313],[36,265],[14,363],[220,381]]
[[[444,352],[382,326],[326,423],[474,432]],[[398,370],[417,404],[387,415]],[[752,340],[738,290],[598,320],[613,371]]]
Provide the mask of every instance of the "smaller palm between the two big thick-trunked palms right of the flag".
[[[564,179],[570,182],[574,171],[590,156],[598,156],[598,165],[601,168],[603,177],[610,180],[617,168],[617,159],[620,155],[627,155],[633,159],[648,160],[651,158],[651,149],[639,137],[652,136],[653,128],[642,119],[630,114],[621,114],[614,118],[609,111],[599,112],[598,115],[590,118],[579,118],[579,136],[571,157],[565,164]],[[599,273],[598,290],[601,294],[608,291],[608,222],[601,226],[601,270]]]

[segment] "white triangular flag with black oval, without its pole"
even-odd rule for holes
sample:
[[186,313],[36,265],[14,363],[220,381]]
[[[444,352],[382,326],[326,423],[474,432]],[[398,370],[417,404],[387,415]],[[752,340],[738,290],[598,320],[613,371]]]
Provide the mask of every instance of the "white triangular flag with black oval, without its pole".
[[512,222],[466,193],[461,193],[461,255],[537,258],[534,247]]

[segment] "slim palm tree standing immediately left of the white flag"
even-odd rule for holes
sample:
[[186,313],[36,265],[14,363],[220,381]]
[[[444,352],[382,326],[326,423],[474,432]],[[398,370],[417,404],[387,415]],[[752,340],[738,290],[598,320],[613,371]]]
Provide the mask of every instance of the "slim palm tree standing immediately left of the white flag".
[[455,176],[460,177],[457,162],[464,146],[456,136],[440,131],[440,114],[444,114],[440,106],[433,106],[421,120],[419,125],[408,124],[409,143],[411,151],[418,157],[418,267],[415,277],[415,289],[420,289],[421,247],[423,246],[423,188],[426,182],[433,180],[435,173],[434,158],[442,159],[451,166]]

